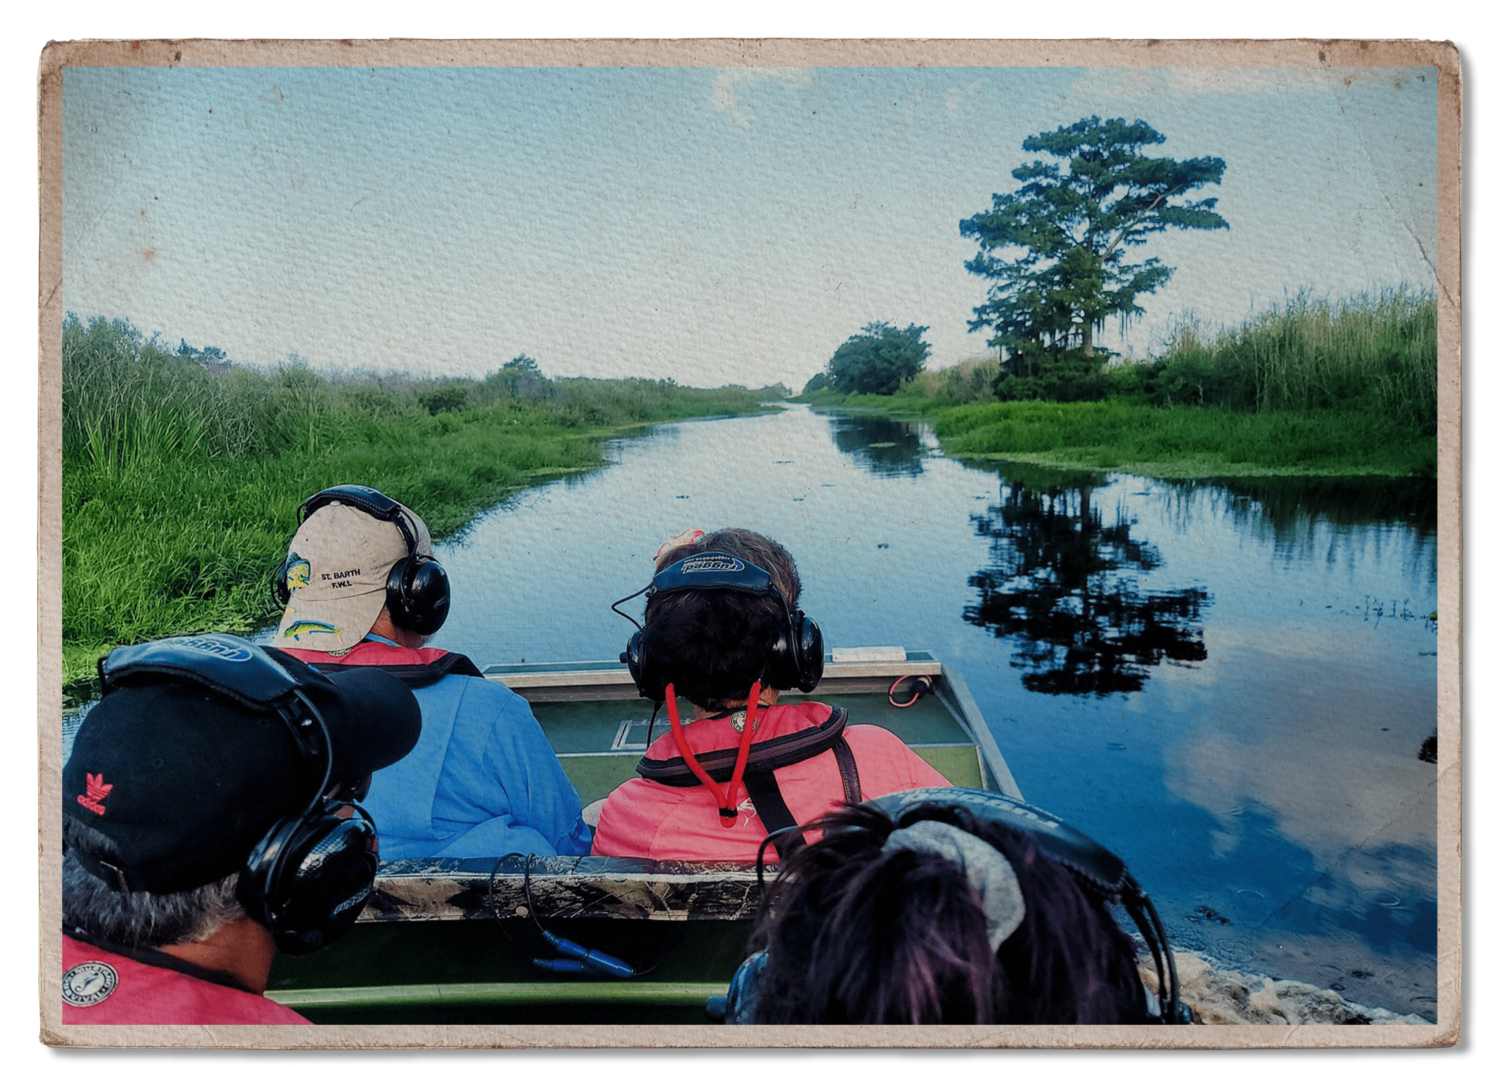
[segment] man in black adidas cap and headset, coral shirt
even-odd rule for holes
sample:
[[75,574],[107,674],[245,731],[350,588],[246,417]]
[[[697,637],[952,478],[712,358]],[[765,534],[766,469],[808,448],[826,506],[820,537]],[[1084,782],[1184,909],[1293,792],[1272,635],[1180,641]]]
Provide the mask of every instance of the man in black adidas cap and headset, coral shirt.
[[380,672],[201,634],[116,649],[63,768],[63,1023],[300,1024],[278,949],[354,924],[380,861],[356,804],[417,742]]

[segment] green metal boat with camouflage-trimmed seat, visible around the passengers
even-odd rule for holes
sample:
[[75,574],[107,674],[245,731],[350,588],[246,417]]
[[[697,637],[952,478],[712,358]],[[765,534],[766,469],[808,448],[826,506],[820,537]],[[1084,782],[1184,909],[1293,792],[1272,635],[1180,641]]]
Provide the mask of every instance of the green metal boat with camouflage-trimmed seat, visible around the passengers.
[[[651,706],[624,666],[520,664],[486,675],[531,703],[585,805],[634,775]],[[906,675],[930,676],[934,693],[896,708],[886,693]],[[836,651],[812,697],[848,708],[850,723],[894,732],[954,784],[1020,796],[968,690],[927,654]],[[668,727],[662,714],[654,735]],[[370,904],[336,945],[276,960],[268,996],[315,1023],[704,1023],[708,999],[723,996],[746,954],[758,903],[754,865],[394,861],[381,865]],[[620,960],[632,976],[534,966],[562,958],[543,927]]]

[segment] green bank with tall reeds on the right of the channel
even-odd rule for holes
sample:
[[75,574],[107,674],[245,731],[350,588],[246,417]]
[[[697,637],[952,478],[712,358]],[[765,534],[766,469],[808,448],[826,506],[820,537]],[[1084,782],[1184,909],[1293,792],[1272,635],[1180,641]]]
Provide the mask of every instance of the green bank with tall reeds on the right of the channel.
[[1431,295],[1304,292],[1238,328],[1184,321],[1160,358],[1107,366],[1066,403],[1005,400],[1016,385],[999,373],[993,357],[972,358],[896,396],[800,399],[933,418],[952,456],[1162,478],[1437,471]]

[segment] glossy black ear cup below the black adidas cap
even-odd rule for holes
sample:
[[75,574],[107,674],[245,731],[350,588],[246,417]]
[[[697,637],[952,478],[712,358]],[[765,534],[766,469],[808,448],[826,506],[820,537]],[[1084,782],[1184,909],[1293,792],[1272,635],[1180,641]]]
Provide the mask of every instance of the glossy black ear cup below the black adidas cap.
[[278,951],[306,955],[350,930],[369,901],[378,865],[369,813],[348,801],[322,801],[312,813],[279,822],[255,847],[240,873],[240,904],[272,931]]

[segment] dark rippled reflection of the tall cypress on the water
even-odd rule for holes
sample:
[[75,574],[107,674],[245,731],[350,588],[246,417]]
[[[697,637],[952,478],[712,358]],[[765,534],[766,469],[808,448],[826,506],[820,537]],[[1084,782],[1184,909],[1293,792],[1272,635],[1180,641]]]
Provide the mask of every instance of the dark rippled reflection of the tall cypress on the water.
[[[1202,588],[1137,588],[1136,574],[1161,565],[1132,540],[1118,510],[1106,525],[1092,499],[1096,477],[1029,471],[1012,475],[1000,502],[972,517],[990,537],[990,565],[969,579],[980,601],[963,618],[1011,639],[1022,682],[1044,694],[1138,691],[1149,669],[1202,661]],[[1071,484],[1071,486],[1070,486]]]

